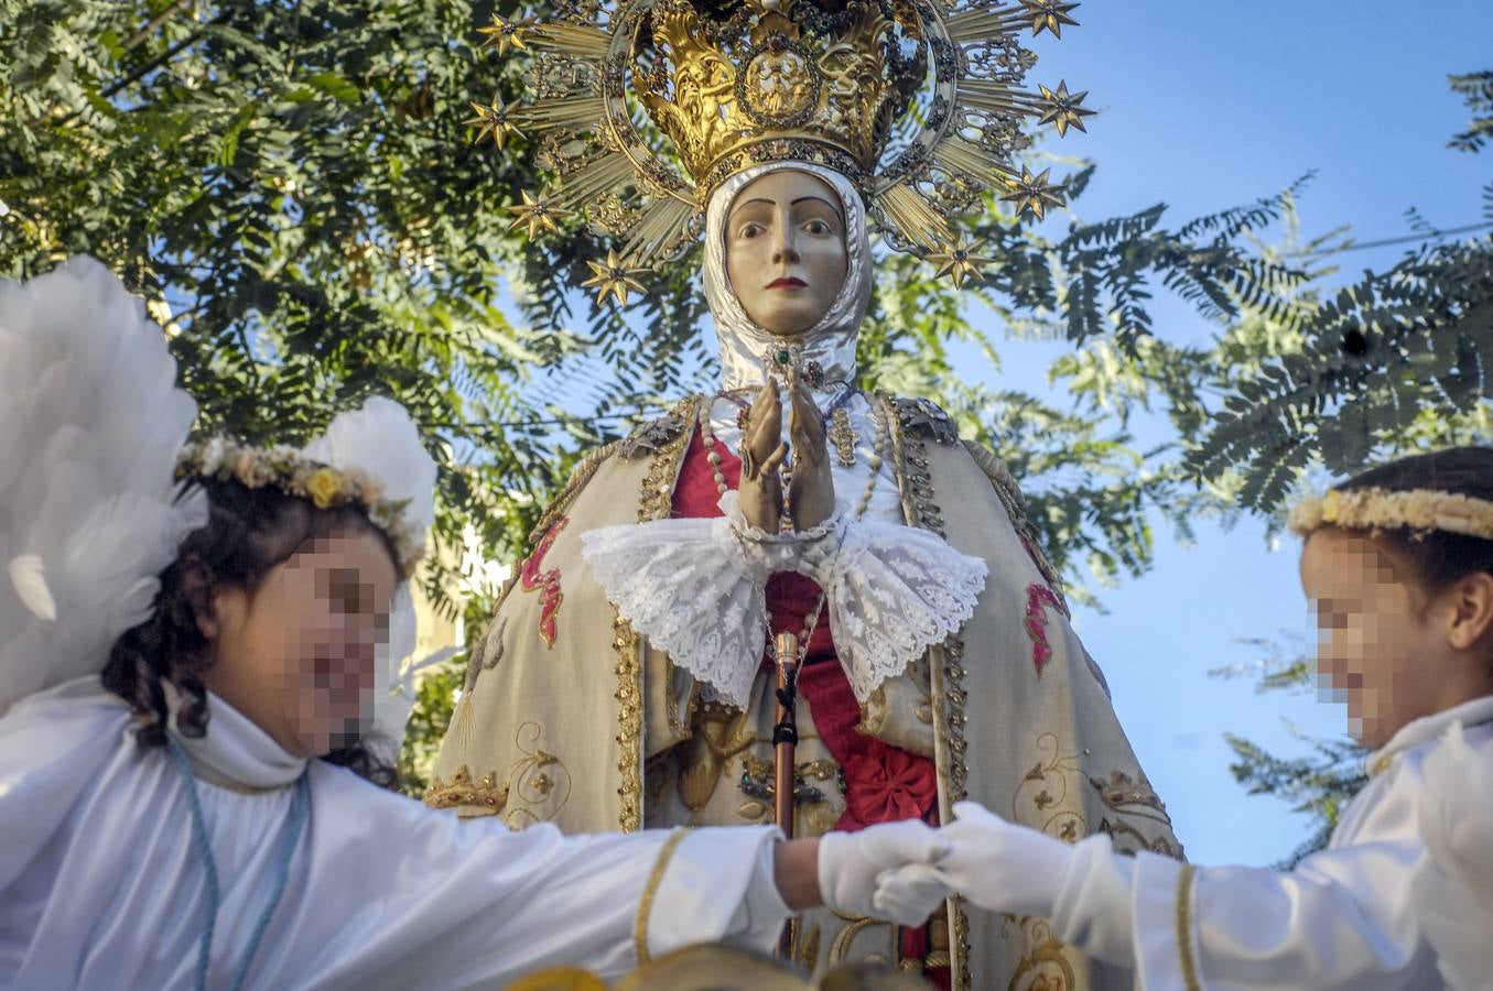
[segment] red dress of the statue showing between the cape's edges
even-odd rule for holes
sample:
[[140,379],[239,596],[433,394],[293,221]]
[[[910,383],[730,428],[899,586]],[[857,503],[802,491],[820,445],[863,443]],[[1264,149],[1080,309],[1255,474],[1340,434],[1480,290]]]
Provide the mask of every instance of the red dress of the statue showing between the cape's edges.
[[[715,440],[726,484],[741,484],[741,458]],[[720,516],[720,488],[705,452],[705,440],[696,430],[679,469],[679,484],[673,488],[673,516]],[[767,616],[772,634],[803,633],[803,622],[814,609],[820,587],[802,575],[779,572],[767,579]],[[763,657],[763,666],[772,661]],[[835,637],[827,613],[809,637],[809,649],[799,673],[799,693],[814,712],[820,739],[841,766],[845,778],[845,812],[836,830],[855,830],[893,822],[923,819],[938,825],[938,775],[933,761],[857,733],[860,703],[835,657]],[[903,954],[921,960],[927,954],[926,928],[903,930]],[[927,972],[929,979],[947,988],[948,969]]]

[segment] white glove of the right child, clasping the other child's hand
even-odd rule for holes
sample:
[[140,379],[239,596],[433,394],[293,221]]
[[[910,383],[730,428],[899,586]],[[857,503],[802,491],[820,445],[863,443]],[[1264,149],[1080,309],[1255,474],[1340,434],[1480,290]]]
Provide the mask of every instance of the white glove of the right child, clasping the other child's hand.
[[887,915],[915,912],[954,890],[991,912],[1051,916],[1073,848],[1012,825],[975,801],[957,803],[954,815],[939,830],[951,843],[948,855],[884,876],[873,906]]

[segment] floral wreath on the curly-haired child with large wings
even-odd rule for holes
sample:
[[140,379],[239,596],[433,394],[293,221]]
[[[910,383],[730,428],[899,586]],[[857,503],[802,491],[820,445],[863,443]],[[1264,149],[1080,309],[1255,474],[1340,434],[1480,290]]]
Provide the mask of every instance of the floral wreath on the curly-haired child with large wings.
[[355,506],[388,537],[400,581],[414,575],[426,552],[424,533],[417,531],[406,512],[411,500],[384,498],[384,485],[366,472],[333,467],[296,448],[251,448],[227,437],[211,437],[182,448],[176,478],[231,479],[246,488],[273,485],[287,495],[309,498],[317,509]]

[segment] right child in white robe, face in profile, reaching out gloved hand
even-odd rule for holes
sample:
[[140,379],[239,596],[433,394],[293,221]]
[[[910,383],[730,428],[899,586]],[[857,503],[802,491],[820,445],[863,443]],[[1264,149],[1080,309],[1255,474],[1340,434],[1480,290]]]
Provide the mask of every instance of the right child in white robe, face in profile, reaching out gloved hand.
[[[1478,849],[1493,813],[1460,801],[1472,831],[1459,834],[1424,809],[1453,812],[1436,800],[1448,770],[1426,775],[1451,757],[1448,734],[1463,787],[1486,801],[1493,782],[1493,449],[1372,469],[1299,506],[1291,528],[1306,537],[1318,667],[1353,736],[1377,748],[1326,849],[1288,872],[1193,867],[1120,855],[1103,834],[1069,846],[963,803],[942,830],[950,855],[885,878],[876,904],[915,913],[957,890],[1048,916],[1059,939],[1153,991],[1493,988],[1493,849]],[[1448,869],[1457,884],[1439,885]]]

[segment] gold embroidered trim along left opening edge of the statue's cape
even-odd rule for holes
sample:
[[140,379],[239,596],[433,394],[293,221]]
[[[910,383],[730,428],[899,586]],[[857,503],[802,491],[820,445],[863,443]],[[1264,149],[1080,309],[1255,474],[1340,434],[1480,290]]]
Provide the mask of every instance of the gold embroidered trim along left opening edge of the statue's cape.
[[[673,407],[673,415],[681,416],[685,424],[693,424],[699,403],[699,396],[688,396]],[[693,430],[682,430],[678,437],[654,451],[639,493],[638,522],[669,518],[673,509],[673,487],[693,436]],[[617,770],[621,779],[617,787],[621,798],[618,824],[624,833],[635,833],[642,825],[643,648],[638,631],[615,607],[612,631],[612,648],[617,649]]]

